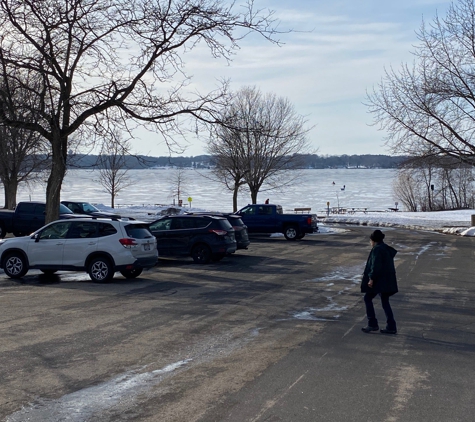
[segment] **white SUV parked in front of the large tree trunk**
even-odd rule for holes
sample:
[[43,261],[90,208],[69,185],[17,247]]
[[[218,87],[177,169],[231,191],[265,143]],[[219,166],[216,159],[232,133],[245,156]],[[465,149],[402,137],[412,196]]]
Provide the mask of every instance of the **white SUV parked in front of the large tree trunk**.
[[138,277],[158,260],[157,240],[147,223],[103,218],[54,221],[30,236],[0,241],[0,268],[11,278],[28,270],[87,271],[106,282],[116,271]]

